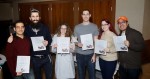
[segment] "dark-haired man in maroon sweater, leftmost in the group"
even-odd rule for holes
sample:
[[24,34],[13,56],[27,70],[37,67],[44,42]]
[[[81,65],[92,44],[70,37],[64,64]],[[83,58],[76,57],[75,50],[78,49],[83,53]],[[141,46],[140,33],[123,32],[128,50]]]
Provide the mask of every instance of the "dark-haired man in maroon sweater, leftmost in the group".
[[24,36],[24,30],[24,23],[17,21],[14,24],[15,34],[11,34],[7,40],[6,59],[14,79],[33,79],[30,73],[16,72],[17,56],[30,56],[30,41],[29,38]]

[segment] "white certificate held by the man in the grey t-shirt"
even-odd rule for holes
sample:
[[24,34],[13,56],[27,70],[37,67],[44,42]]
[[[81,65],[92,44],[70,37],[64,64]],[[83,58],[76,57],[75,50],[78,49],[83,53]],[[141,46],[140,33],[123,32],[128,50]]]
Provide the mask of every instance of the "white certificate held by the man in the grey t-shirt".
[[83,44],[82,50],[93,49],[93,37],[92,34],[81,35],[81,43]]

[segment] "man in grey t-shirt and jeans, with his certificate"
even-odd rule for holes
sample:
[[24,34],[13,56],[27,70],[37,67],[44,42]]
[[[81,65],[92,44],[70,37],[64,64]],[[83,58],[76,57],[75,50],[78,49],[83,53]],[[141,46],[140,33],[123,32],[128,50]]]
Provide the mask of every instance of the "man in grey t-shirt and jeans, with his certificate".
[[[78,42],[75,43],[77,46],[76,59],[78,79],[85,79],[86,68],[89,72],[89,79],[95,79],[96,57],[92,43],[93,39],[97,39],[99,31],[97,25],[89,21],[91,17],[89,10],[83,10],[81,16],[83,22],[76,25],[74,28],[74,36],[78,40]],[[92,40],[90,39],[91,37],[87,37],[87,35],[91,36]],[[81,41],[81,37],[83,36],[86,36],[87,38],[84,38],[84,40],[82,39],[83,41]]]

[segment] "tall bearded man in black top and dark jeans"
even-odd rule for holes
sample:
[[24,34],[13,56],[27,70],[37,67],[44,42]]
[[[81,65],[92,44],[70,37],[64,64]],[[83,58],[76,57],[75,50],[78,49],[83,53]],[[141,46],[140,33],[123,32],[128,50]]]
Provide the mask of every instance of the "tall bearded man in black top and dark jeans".
[[[40,22],[40,12],[36,9],[31,10],[31,15],[29,17],[31,23],[26,26],[25,35],[28,37],[39,37],[43,36],[43,44],[46,50],[34,51],[31,48],[31,62],[33,64],[33,69],[36,79],[42,79],[41,68],[43,68],[46,79],[51,79],[52,76],[52,60],[49,55],[49,46],[52,42],[51,34],[48,27]],[[33,46],[33,45],[32,45]]]

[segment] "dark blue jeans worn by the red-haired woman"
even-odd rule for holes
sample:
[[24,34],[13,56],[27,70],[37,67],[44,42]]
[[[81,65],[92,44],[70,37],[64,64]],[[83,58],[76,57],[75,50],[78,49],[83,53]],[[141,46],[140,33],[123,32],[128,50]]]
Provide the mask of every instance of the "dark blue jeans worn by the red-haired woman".
[[102,73],[103,79],[113,79],[113,75],[116,69],[117,60],[116,61],[105,61],[99,58],[99,65]]

